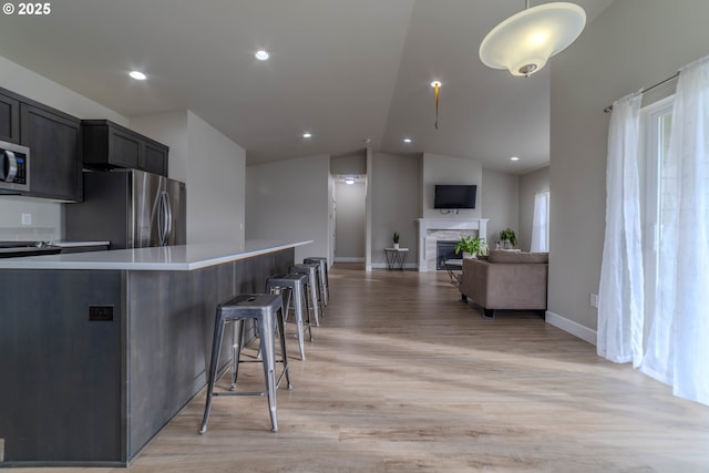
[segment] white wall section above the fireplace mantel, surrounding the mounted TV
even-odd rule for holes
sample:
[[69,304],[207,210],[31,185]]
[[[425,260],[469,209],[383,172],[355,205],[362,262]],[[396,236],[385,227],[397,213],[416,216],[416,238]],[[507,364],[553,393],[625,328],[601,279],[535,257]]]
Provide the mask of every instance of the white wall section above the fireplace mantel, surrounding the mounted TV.
[[[436,184],[474,184],[477,186],[475,208],[462,208],[458,215],[442,215],[440,209],[433,208],[434,186]],[[424,153],[422,166],[421,208],[424,218],[489,218],[482,215],[481,203],[483,193],[483,166],[480,162],[438,154]]]

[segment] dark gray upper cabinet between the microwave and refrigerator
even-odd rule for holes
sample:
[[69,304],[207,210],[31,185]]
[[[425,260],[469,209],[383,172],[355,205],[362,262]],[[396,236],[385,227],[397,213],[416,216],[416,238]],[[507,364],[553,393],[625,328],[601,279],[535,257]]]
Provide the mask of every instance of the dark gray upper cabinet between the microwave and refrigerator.
[[81,121],[39,103],[20,103],[20,143],[30,148],[31,197],[81,202]]

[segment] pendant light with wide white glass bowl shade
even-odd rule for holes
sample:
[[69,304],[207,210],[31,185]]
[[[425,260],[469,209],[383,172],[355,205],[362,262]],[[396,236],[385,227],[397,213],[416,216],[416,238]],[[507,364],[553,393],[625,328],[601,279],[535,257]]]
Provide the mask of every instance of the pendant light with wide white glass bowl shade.
[[507,18],[480,44],[480,59],[492,69],[530,76],[554,54],[564,51],[586,25],[586,12],[575,3],[553,2]]

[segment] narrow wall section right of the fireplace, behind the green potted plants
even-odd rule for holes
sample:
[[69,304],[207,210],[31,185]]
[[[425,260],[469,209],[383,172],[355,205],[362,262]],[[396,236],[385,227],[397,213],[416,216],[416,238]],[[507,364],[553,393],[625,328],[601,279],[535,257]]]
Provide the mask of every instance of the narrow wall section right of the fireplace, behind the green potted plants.
[[497,171],[483,169],[482,182],[485,183],[484,192],[479,193],[481,197],[482,217],[490,218],[487,222],[487,244],[491,248],[500,240],[500,232],[512,228],[515,235],[520,232],[518,187],[520,178],[513,174],[500,173]]

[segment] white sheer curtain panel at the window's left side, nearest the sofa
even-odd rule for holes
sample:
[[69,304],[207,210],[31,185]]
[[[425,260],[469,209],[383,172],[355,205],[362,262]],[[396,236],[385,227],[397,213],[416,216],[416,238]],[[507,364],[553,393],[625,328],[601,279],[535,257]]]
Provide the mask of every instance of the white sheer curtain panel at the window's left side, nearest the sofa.
[[638,181],[641,94],[613,104],[606,167],[606,234],[598,291],[598,356],[643,360],[643,247]]

